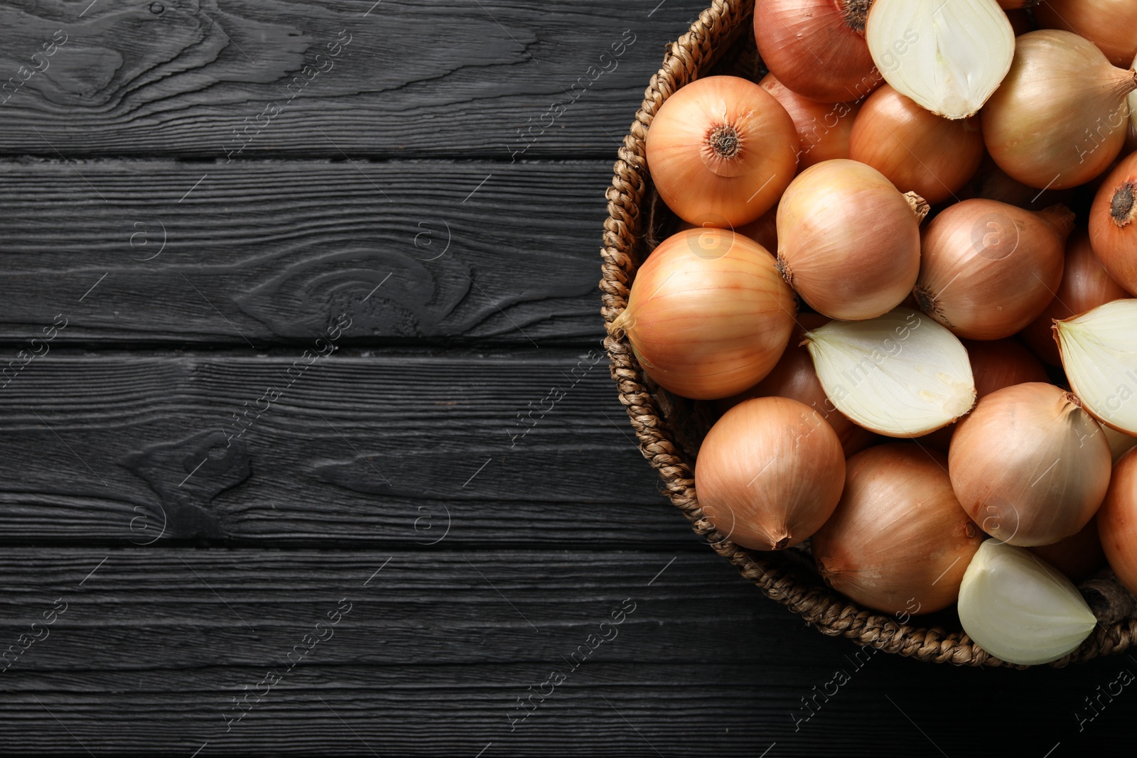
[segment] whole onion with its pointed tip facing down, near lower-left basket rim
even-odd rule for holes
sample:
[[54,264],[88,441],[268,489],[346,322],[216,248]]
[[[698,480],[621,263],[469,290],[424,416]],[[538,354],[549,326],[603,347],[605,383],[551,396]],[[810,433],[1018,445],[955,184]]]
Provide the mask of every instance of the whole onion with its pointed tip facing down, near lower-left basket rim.
[[845,484],[837,434],[812,408],[787,398],[746,400],[707,432],[695,461],[704,516],[723,539],[781,550],[811,536]]

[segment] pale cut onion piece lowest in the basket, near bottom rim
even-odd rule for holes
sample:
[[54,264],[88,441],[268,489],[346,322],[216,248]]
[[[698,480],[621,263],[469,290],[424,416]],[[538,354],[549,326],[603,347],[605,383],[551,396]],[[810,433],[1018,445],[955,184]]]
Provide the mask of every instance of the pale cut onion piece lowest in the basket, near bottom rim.
[[1073,583],[1024,548],[987,540],[960,584],[960,622],[1009,664],[1048,664],[1078,649],[1097,625]]

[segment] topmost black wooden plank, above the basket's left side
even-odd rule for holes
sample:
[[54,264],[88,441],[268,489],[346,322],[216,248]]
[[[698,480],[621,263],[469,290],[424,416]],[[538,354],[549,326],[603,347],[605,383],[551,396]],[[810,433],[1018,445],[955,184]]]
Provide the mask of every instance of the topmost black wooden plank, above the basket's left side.
[[222,161],[614,156],[664,43],[706,5],[8,5],[0,150]]

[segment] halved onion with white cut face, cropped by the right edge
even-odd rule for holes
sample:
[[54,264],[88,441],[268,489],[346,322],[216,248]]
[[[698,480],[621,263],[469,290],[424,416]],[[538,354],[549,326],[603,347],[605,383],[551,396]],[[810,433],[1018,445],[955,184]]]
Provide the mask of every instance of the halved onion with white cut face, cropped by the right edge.
[[1070,386],[1101,423],[1137,435],[1137,300],[1114,300],[1054,322]]

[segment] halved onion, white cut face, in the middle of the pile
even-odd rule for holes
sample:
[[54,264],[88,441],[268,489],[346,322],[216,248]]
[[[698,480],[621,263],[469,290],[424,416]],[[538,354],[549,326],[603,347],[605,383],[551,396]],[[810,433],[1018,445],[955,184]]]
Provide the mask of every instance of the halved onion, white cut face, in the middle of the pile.
[[911,308],[863,322],[830,322],[805,340],[825,394],[878,434],[928,434],[976,402],[963,343]]

